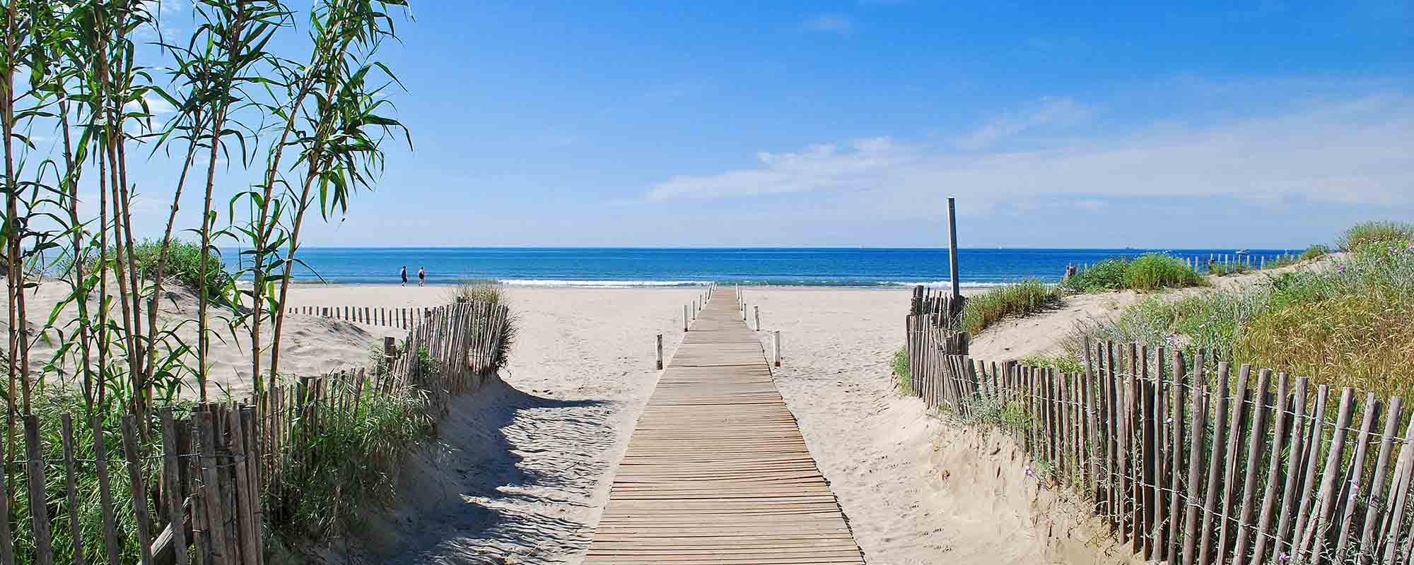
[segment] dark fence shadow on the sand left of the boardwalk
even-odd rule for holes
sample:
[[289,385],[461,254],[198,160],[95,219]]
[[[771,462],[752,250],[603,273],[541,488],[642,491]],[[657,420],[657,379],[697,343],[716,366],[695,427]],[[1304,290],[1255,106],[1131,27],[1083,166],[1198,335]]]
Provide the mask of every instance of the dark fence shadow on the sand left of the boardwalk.
[[[590,500],[612,466],[611,403],[554,400],[501,380],[457,398],[407,465],[373,562],[551,564],[583,552]],[[396,533],[395,533],[396,531]],[[385,544],[372,542],[389,535]]]

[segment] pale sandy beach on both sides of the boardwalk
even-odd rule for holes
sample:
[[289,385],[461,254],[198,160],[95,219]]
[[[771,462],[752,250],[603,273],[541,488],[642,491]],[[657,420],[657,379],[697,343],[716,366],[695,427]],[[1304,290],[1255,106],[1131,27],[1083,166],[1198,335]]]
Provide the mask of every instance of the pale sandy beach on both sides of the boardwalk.
[[[406,466],[399,503],[329,548],[331,561],[580,562],[656,383],[653,338],[663,333],[670,356],[682,307],[700,291],[509,287],[520,333],[503,383],[458,400],[438,444]],[[447,292],[301,285],[291,302],[426,307]],[[870,562],[1103,555],[1083,513],[1065,511],[1063,496],[1025,479],[1010,439],[959,432],[892,391],[888,362],[904,339],[908,288],[752,287],[744,295],[761,308],[764,343],[782,332],[776,386]]]

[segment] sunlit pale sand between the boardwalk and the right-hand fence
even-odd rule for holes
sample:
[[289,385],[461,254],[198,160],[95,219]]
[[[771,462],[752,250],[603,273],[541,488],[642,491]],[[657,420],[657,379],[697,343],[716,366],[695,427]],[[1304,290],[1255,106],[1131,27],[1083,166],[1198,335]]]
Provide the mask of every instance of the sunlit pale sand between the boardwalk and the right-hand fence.
[[776,386],[870,564],[1128,558],[1110,557],[1089,516],[1025,476],[1027,458],[1010,438],[946,424],[891,388],[906,290],[752,288],[745,297],[761,307],[762,329],[782,331]]

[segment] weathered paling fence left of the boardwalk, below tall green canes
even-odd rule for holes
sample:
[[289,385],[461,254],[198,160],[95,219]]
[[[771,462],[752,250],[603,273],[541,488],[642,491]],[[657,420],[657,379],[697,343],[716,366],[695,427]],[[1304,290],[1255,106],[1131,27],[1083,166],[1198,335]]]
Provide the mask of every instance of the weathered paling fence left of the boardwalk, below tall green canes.
[[[0,564],[259,565],[262,524],[300,496],[288,475],[338,456],[321,435],[379,394],[411,394],[417,401],[404,405],[436,421],[452,396],[493,379],[508,315],[482,302],[431,308],[400,346],[385,346],[375,369],[303,377],[233,403],[165,407],[153,421],[127,414],[116,429],[71,414],[59,415],[61,429],[41,429],[25,415],[23,453],[11,453],[18,472],[0,480]],[[158,448],[144,449],[143,438],[160,438]],[[335,497],[345,503],[354,501]],[[71,545],[55,545],[58,528]],[[102,541],[74,535],[86,528],[100,528]]]

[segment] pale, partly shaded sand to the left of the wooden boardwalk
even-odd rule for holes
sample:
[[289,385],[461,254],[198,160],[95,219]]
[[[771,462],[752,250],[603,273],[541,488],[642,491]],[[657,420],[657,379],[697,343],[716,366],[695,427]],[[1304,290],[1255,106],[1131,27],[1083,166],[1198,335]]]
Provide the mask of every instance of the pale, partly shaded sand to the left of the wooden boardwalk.
[[[437,291],[349,292],[416,301]],[[503,383],[454,403],[437,444],[404,466],[395,507],[328,561],[580,562],[658,380],[653,336],[662,332],[672,355],[683,304],[699,292],[510,288],[520,333]]]

